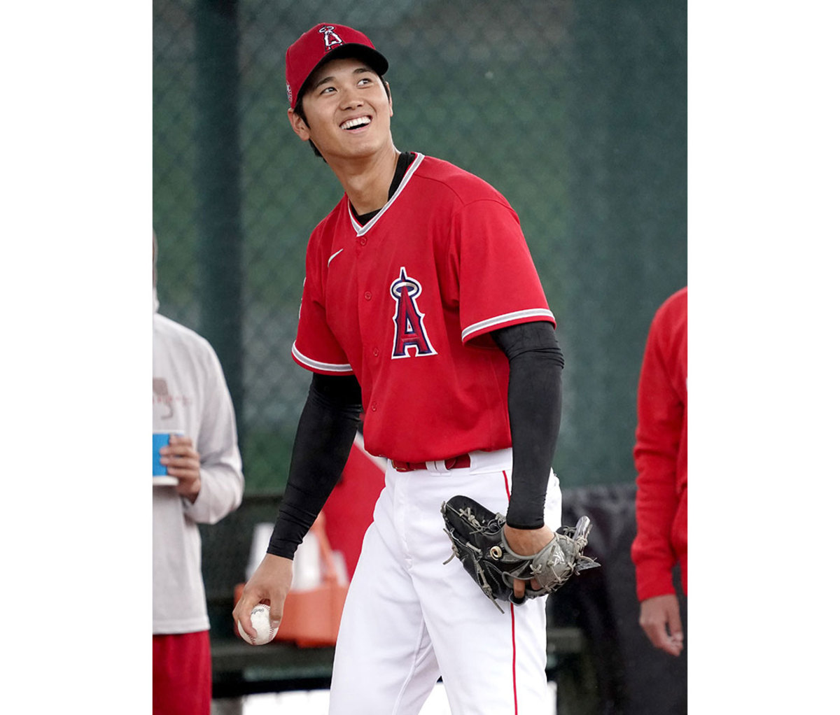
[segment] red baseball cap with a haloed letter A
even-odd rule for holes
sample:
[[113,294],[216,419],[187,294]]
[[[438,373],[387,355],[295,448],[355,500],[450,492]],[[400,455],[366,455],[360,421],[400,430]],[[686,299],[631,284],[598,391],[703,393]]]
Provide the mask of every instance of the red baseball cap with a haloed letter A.
[[384,75],[388,69],[388,60],[359,30],[335,23],[318,23],[286,50],[286,94],[289,106],[297,104],[301,87],[319,65],[339,57],[364,60],[379,75]]

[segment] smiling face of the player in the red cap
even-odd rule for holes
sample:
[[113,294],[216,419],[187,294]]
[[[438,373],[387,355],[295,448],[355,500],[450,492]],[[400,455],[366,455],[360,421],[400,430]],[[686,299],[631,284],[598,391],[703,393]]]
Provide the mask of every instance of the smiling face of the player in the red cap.
[[345,58],[312,73],[302,97],[303,114],[289,110],[291,128],[312,140],[328,163],[392,152],[391,97],[370,66]]

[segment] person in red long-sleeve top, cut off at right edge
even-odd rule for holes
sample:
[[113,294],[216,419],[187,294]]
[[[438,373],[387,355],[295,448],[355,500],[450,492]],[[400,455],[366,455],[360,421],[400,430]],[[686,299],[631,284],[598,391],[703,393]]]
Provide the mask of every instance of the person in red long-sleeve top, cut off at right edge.
[[650,642],[670,655],[683,650],[683,625],[673,570],[688,595],[688,288],[656,311],[638,382],[638,426],[633,460],[639,624]]

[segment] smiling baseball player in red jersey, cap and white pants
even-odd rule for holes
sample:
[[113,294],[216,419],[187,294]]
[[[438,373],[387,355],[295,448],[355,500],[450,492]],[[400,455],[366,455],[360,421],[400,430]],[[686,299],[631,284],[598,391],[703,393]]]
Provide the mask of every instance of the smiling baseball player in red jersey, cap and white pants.
[[[344,467],[360,413],[386,485],[344,606],[331,715],[416,713],[438,677],[455,715],[546,699],[545,599],[496,605],[457,562],[441,504],[507,516],[534,554],[560,525],[551,469],[563,356],[516,213],[485,181],[391,138],[388,62],[320,23],[286,53],[291,128],[344,196],[312,232],[292,358],[312,372],[268,553],[234,619],[279,621],[292,557]],[[531,583],[533,586],[533,582]]]

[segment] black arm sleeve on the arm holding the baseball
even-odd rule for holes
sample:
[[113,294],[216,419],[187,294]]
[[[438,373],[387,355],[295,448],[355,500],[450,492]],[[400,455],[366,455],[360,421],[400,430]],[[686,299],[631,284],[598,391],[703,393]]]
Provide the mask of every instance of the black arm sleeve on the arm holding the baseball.
[[294,556],[344,471],[361,406],[356,378],[312,376],[268,553]]

